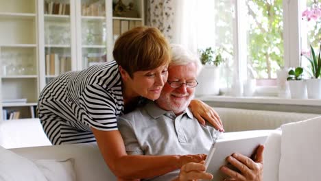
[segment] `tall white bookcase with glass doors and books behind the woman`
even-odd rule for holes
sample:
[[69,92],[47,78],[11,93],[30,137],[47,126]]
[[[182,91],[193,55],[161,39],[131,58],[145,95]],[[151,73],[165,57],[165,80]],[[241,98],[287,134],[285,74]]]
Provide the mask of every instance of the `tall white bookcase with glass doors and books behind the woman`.
[[143,0],[0,0],[0,4],[0,108],[20,112],[19,118],[34,117],[40,91],[50,80],[113,60],[116,38],[144,24]]

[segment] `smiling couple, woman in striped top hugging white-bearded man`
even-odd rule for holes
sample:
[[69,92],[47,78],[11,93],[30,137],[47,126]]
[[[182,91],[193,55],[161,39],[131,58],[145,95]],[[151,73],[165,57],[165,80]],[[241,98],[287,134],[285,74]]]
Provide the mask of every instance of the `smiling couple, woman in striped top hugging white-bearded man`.
[[[119,180],[211,179],[202,161],[224,129],[213,108],[193,99],[198,58],[170,46],[154,27],[122,34],[112,53],[115,61],[64,73],[45,86],[37,110],[51,143],[97,142]],[[221,170],[228,179],[260,181],[262,154],[263,147],[254,161],[233,154],[227,160],[240,172]]]

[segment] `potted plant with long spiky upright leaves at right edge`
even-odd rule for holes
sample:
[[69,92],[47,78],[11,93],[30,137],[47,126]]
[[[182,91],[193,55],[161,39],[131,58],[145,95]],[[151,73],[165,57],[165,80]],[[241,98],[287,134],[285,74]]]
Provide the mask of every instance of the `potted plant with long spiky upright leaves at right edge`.
[[316,52],[313,47],[311,47],[311,56],[308,57],[306,55],[305,58],[309,60],[310,66],[310,74],[311,79],[307,80],[307,93],[308,97],[311,99],[321,99],[321,44],[319,48],[318,56],[316,56]]

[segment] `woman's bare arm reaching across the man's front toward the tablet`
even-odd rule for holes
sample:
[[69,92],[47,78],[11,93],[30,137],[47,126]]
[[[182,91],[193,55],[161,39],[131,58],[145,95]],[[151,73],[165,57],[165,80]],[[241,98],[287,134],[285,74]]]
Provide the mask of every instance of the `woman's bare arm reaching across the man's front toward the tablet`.
[[108,167],[119,178],[150,178],[179,169],[187,162],[200,162],[206,155],[128,156],[118,130],[91,128]]

